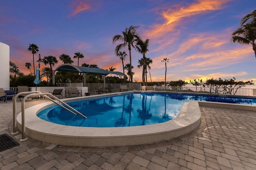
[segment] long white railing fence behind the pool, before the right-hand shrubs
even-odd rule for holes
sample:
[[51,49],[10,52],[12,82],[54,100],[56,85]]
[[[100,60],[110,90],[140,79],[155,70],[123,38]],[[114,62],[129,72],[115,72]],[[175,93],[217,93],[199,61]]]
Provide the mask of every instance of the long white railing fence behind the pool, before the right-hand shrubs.
[[212,88],[212,87],[170,87],[170,86],[156,86],[155,91],[170,91],[180,93],[206,93],[206,94],[219,94],[219,95],[241,95],[241,96],[252,96],[253,89],[245,88]]

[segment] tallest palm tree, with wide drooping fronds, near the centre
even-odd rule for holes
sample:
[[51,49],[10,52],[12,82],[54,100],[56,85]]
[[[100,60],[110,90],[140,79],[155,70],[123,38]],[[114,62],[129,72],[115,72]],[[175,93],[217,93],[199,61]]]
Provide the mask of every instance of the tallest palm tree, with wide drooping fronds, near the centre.
[[[130,66],[132,66],[131,47],[134,47],[134,43],[137,43],[137,41],[140,39],[140,36],[136,30],[138,27],[139,26],[130,26],[130,28],[126,28],[125,31],[122,32],[122,35],[117,34],[112,38],[113,43],[119,40],[124,42],[116,46],[116,49],[115,49],[116,54],[120,51],[120,49],[128,46],[128,50],[130,54]],[[130,72],[132,73],[132,68],[130,68]],[[130,77],[132,82],[132,74],[130,75]]]

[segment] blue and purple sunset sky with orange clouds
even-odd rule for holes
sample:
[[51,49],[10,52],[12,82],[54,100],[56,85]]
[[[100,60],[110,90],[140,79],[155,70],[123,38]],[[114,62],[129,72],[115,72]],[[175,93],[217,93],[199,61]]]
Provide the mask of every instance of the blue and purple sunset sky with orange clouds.
[[[73,59],[80,52],[79,64],[96,64],[102,69],[122,71],[115,55],[113,36],[130,26],[149,39],[146,57],[152,59],[148,82],[193,79],[253,80],[256,83],[256,58],[251,45],[231,41],[240,20],[256,9],[256,0],[0,0],[0,42],[10,46],[10,61],[22,73],[30,73],[29,44],[39,47],[41,58],[61,54]],[[130,63],[128,56],[124,64]],[[142,54],[131,50],[133,80],[142,81],[137,68]],[[63,64],[62,61],[53,67]],[[35,62],[35,67],[38,65]],[[40,68],[49,67],[41,63]],[[33,71],[32,71],[33,72]],[[125,71],[127,73],[127,71]]]

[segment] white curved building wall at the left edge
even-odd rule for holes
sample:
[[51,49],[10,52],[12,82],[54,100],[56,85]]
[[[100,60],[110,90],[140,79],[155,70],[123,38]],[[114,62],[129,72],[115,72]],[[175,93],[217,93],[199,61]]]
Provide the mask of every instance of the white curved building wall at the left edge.
[[0,88],[10,87],[10,46],[0,42]]

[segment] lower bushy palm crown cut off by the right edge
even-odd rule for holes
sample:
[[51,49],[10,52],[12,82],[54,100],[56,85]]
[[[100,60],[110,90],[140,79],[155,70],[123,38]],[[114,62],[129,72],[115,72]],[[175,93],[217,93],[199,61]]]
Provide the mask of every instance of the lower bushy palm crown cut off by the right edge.
[[231,40],[240,44],[252,44],[252,49],[256,57],[256,26],[249,22],[242,25],[232,33]]

